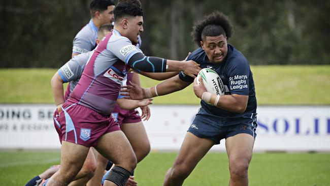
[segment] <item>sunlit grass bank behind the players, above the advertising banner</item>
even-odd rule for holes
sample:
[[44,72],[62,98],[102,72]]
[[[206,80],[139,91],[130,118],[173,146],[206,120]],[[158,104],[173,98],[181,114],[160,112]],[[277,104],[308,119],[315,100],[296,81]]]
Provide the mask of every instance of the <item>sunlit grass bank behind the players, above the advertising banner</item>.
[[[329,105],[330,66],[252,66],[258,105]],[[53,103],[56,69],[0,69],[0,103]],[[158,81],[141,77],[143,87]],[[317,95],[317,96],[316,96]],[[192,85],[154,104],[199,104]]]

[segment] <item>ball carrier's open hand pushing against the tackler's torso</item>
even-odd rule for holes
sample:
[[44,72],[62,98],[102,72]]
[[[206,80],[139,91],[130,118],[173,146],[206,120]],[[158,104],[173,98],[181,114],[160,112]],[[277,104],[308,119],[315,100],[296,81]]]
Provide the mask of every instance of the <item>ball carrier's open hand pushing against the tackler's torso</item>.
[[141,88],[138,84],[135,84],[129,81],[131,85],[125,85],[121,87],[120,95],[124,96],[124,99],[128,100],[143,100],[146,98],[144,89]]

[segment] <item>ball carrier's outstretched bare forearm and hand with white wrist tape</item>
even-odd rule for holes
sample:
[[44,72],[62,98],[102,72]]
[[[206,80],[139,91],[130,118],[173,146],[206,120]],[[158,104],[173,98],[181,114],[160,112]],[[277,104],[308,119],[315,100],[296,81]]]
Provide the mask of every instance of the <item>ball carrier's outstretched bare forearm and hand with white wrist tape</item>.
[[124,96],[125,99],[141,100],[168,95],[187,87],[189,84],[190,82],[182,81],[177,75],[150,88],[141,88],[137,84],[131,83],[131,86],[122,86],[123,89],[120,91],[123,92],[121,96]]

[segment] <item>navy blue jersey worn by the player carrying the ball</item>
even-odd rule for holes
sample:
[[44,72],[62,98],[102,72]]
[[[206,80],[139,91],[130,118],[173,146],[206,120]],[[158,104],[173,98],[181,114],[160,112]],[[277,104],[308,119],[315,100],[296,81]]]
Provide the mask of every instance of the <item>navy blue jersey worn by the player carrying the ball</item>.
[[[220,76],[224,88],[225,95],[245,95],[249,96],[247,108],[244,113],[235,113],[223,110],[221,108],[212,106],[201,101],[202,109],[206,115],[212,115],[216,117],[244,117],[252,118],[255,115],[257,108],[257,101],[255,98],[254,82],[250,65],[244,55],[238,51],[235,47],[228,44],[227,56],[222,63],[211,63],[202,48],[194,50],[187,58],[187,60],[194,60],[200,64],[201,68],[210,68],[218,73]],[[179,73],[179,78],[182,81],[193,82],[193,78]]]

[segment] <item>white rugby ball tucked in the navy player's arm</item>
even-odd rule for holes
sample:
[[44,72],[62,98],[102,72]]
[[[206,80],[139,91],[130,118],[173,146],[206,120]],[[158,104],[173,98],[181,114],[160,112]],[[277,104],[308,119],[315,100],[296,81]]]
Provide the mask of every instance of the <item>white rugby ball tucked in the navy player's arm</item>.
[[197,84],[200,84],[200,77],[202,77],[204,86],[208,92],[215,95],[224,95],[224,86],[218,73],[212,69],[205,68],[198,73]]

